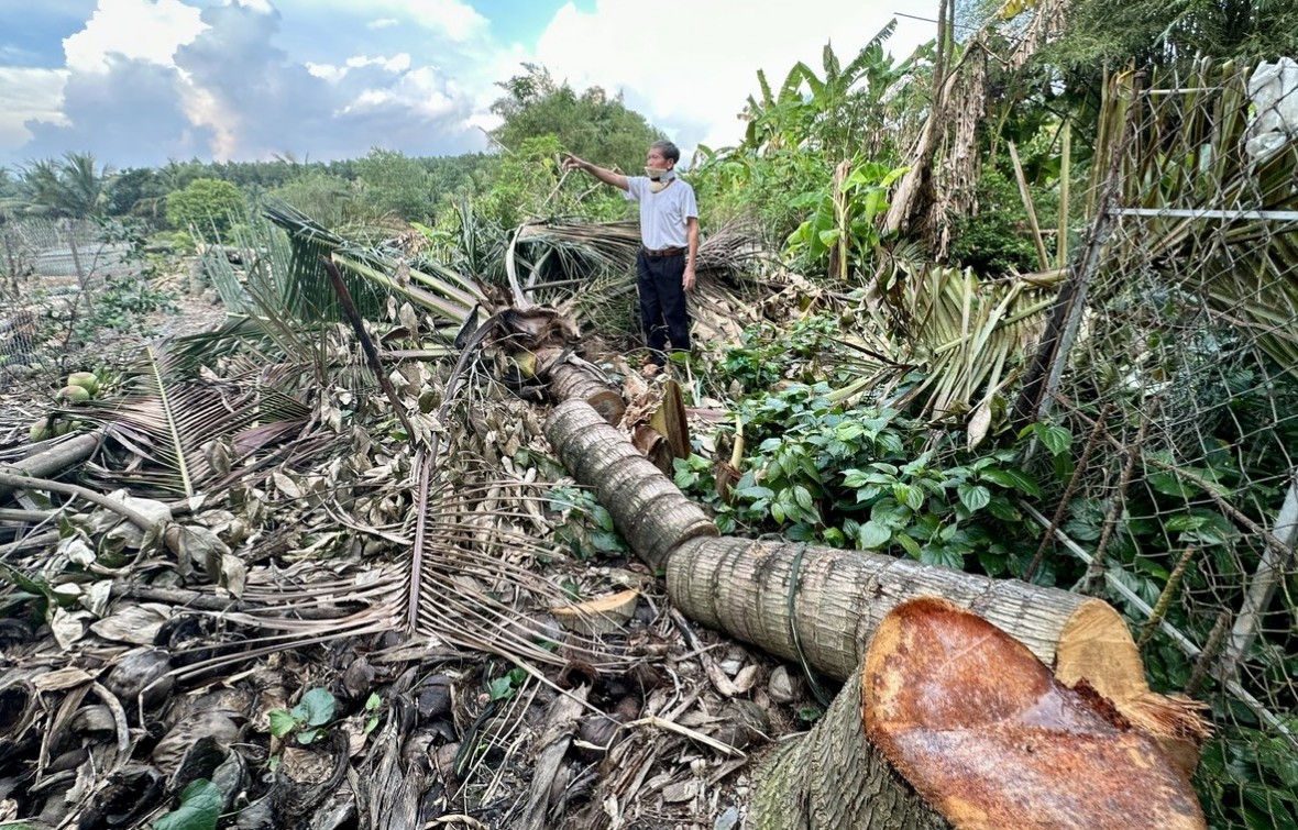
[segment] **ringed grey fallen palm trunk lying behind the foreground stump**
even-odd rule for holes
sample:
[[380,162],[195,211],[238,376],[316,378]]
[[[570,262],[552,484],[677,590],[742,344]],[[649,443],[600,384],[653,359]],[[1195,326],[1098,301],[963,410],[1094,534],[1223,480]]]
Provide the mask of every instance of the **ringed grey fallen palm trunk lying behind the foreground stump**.
[[1068,591],[864,551],[718,538],[706,514],[580,401],[557,406],[545,434],[631,549],[666,575],[681,612],[833,680],[857,669],[879,621],[915,597],[985,616],[1046,663],[1079,620],[1107,612],[1125,630],[1107,603]]

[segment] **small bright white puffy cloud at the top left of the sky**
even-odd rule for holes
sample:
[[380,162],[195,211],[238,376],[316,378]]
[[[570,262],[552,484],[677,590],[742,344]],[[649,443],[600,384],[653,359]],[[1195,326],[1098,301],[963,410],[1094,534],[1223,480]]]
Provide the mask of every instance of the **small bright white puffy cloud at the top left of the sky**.
[[173,66],[177,47],[206,26],[179,0],[99,0],[86,29],[64,40],[67,69],[108,71],[110,53]]

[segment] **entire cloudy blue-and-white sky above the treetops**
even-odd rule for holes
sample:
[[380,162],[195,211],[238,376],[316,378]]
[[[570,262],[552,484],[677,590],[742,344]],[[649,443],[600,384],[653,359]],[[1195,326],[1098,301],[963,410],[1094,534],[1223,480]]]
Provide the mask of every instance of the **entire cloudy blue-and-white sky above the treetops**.
[[[0,166],[91,152],[328,161],[487,148],[495,86],[540,64],[724,147],[765,69],[846,58],[937,0],[0,0]],[[935,25],[898,18],[910,54]]]

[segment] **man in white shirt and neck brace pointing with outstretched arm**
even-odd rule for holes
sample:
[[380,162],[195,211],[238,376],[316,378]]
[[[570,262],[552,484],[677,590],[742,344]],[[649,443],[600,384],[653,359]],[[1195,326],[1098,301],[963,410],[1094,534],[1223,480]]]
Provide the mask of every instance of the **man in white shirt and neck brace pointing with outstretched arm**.
[[694,188],[676,178],[679,161],[680,150],[671,141],[654,141],[649,147],[643,176],[624,176],[571,154],[563,160],[565,167],[580,167],[600,182],[624,191],[627,201],[640,202],[641,245],[636,257],[640,324],[649,359],[657,368],[667,361],[668,340],[672,351],[689,351],[685,292],[694,288],[698,204]]

